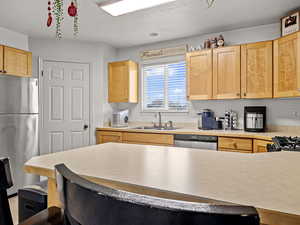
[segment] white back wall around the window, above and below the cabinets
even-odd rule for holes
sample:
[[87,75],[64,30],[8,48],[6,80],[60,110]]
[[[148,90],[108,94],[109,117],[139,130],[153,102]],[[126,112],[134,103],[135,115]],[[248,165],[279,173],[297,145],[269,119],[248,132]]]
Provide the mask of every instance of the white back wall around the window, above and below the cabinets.
[[[250,43],[278,38],[280,36],[280,25],[276,23],[221,33],[223,34],[227,45]],[[163,47],[172,47],[182,44],[199,46],[207,38],[215,37],[219,34],[220,33],[195,36],[190,38],[160,42],[151,45],[118,49],[117,59],[132,59],[139,62],[141,65],[143,63],[139,57],[141,51]],[[196,122],[196,113],[200,109],[212,109],[215,111],[217,116],[222,116],[225,110],[232,109],[239,113],[240,126],[242,127],[243,109],[246,105],[266,105],[268,109],[268,124],[291,126],[300,125],[300,99],[193,101],[190,103],[189,113],[167,113],[164,115],[165,119],[173,120],[175,122]],[[131,121],[151,122],[155,119],[153,113],[141,112],[141,104],[118,104],[117,107],[119,109],[130,108]]]

